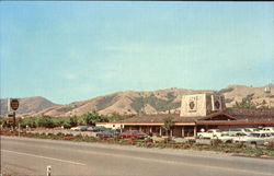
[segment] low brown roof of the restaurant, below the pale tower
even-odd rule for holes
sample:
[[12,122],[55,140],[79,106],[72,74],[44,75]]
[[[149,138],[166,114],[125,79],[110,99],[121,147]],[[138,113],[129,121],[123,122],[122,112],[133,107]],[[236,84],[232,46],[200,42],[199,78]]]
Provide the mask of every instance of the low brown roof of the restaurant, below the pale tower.
[[[232,113],[231,113],[232,112]],[[273,112],[273,113],[272,113]],[[230,114],[231,113],[231,114]],[[233,115],[235,114],[235,115]],[[164,118],[170,117],[175,126],[193,125],[274,125],[274,110],[230,109],[217,112],[204,117],[181,117],[179,114],[139,115],[116,122],[132,126],[162,126]],[[224,120],[222,120],[224,119]]]

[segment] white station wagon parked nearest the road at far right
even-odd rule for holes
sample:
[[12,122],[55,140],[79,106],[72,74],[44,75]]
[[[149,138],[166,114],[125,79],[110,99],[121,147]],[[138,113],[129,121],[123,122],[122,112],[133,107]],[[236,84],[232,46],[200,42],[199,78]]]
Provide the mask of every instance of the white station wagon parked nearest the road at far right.
[[235,142],[262,145],[266,141],[270,141],[272,139],[273,139],[273,136],[270,132],[252,132],[249,136],[236,139]]

